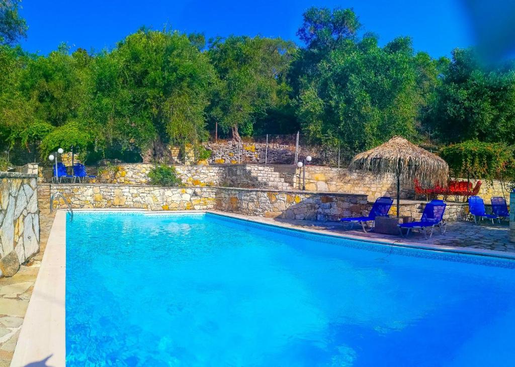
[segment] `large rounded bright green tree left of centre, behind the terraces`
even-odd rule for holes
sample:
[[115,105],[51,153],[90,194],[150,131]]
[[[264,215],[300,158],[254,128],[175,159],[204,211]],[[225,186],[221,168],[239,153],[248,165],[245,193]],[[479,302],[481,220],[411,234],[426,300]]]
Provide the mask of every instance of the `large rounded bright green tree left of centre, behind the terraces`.
[[142,29],[103,52],[92,65],[89,119],[123,149],[160,159],[163,143],[205,138],[215,79],[207,57],[178,32]]

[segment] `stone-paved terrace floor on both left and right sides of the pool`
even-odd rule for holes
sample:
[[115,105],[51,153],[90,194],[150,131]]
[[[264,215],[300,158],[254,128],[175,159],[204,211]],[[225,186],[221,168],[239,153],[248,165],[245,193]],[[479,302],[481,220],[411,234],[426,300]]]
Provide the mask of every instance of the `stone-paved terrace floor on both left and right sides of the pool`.
[[[475,225],[472,222],[450,222],[447,233],[441,235],[438,230],[432,238],[425,240],[422,233],[414,232],[408,238],[396,235],[385,235],[373,232],[364,233],[355,226],[354,230],[347,230],[347,225],[339,222],[301,221],[295,219],[273,219],[250,217],[239,214],[230,215],[243,219],[269,224],[280,224],[290,228],[307,228],[325,233],[345,234],[370,240],[387,240],[390,243],[404,242],[421,246],[442,246],[445,248],[466,248],[480,250],[503,251],[515,254],[515,244],[509,242],[509,227],[507,224],[489,225],[482,223]],[[41,249],[39,254],[29,264],[21,267],[20,271],[11,278],[0,280],[0,367],[10,364],[28,302],[32,294],[33,285],[38,275],[43,253],[48,240],[50,228],[54,222],[55,212],[50,214],[48,209],[40,212]]]

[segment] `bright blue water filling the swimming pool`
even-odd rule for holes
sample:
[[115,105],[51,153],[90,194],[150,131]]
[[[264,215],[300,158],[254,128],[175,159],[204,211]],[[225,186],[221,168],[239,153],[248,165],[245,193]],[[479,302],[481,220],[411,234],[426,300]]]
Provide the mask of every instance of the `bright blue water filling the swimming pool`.
[[507,261],[213,214],[82,212],[66,231],[70,366],[515,364]]

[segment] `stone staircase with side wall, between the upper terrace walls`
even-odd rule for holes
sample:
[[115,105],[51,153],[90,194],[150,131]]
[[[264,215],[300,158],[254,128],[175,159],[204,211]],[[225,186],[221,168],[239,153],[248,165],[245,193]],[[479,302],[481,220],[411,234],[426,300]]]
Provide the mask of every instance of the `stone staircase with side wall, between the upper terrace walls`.
[[227,167],[228,184],[232,187],[291,190],[293,187],[271,166],[237,164]]

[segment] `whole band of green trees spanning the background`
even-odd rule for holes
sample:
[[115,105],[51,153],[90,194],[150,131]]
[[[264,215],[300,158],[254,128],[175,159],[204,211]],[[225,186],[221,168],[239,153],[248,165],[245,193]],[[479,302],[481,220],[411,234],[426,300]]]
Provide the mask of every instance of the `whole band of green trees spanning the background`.
[[62,44],[45,56],[16,45],[27,31],[19,9],[0,0],[0,149],[21,163],[23,152],[72,145],[95,159],[164,161],[168,144],[201,151],[215,125],[235,139],[300,130],[348,155],[400,135],[454,144],[441,150],[452,162],[460,143],[477,154],[515,145],[512,60],[484,65],[474,48],[435,59],[408,36],[380,42],[352,9],[308,9],[300,45],[141,28],[112,49]]

